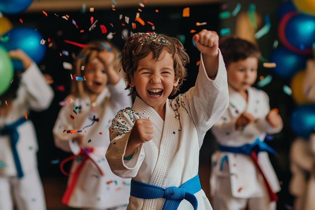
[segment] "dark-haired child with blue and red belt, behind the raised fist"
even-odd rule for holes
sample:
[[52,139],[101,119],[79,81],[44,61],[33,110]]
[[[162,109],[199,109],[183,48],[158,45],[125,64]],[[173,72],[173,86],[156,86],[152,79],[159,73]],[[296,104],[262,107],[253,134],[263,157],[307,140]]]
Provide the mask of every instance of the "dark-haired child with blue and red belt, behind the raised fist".
[[220,43],[229,85],[229,107],[212,127],[219,151],[212,156],[211,191],[215,209],[276,209],[279,182],[264,143],[266,133],[283,127],[268,95],[251,87],[257,78],[259,49],[229,37]]

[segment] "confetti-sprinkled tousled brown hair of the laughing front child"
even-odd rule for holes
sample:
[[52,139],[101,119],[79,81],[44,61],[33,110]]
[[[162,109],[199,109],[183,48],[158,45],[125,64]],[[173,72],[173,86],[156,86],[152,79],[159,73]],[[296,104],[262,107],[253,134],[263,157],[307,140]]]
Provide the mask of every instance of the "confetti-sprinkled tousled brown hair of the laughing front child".
[[153,54],[153,59],[157,61],[163,50],[171,54],[174,60],[175,81],[178,80],[178,85],[173,87],[171,95],[175,95],[187,76],[185,65],[189,63],[189,56],[180,41],[156,33],[135,33],[125,43],[120,63],[128,82],[126,90],[129,89],[129,95],[132,95],[134,99],[138,94],[135,87],[130,87],[129,84],[131,83],[131,76],[137,70],[139,61],[150,52]]

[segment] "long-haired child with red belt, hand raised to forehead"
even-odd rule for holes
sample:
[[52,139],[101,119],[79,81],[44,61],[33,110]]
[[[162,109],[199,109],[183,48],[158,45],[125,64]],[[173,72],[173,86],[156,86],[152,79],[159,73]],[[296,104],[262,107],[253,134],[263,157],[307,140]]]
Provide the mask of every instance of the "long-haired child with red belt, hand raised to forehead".
[[128,204],[130,180],[114,175],[105,159],[108,121],[132,103],[119,74],[118,56],[117,48],[105,41],[81,50],[76,77],[84,79],[72,80],[74,99],[62,107],[53,129],[55,145],[77,155],[62,198],[69,207],[126,209]]

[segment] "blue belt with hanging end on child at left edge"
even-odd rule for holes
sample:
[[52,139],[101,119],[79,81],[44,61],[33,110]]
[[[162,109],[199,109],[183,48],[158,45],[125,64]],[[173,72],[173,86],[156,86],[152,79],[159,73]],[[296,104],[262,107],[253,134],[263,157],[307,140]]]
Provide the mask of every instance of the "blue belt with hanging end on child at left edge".
[[22,125],[24,122],[26,122],[25,117],[20,118],[19,120],[9,124],[5,125],[1,130],[0,130],[0,135],[8,135],[10,137],[10,145],[11,145],[11,150],[14,158],[14,163],[16,167],[16,171],[18,174],[18,178],[22,178],[24,176],[20,158],[18,151],[16,149],[16,144],[19,140],[19,133],[17,131],[17,128]]

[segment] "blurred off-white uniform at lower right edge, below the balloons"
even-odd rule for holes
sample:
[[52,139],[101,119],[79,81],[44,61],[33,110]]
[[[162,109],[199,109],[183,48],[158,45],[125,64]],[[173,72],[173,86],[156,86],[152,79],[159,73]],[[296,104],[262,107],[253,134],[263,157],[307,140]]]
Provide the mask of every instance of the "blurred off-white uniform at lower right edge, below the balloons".
[[[315,208],[314,184],[315,174],[315,134],[309,141],[297,138],[290,149],[290,169],[292,178],[289,184],[290,193],[295,196],[294,209],[308,210]],[[309,179],[307,179],[307,173]]]

